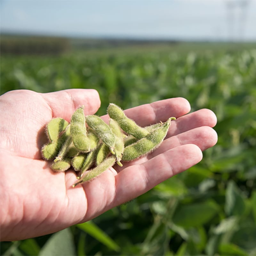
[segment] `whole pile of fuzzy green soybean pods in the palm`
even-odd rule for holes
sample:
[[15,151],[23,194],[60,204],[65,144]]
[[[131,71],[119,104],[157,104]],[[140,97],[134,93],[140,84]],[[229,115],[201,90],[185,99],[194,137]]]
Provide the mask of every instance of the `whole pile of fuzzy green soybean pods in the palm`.
[[76,109],[70,124],[57,117],[46,125],[49,143],[42,147],[42,156],[53,160],[53,171],[65,172],[73,167],[79,179],[73,187],[92,180],[115,163],[123,166],[121,160],[132,161],[152,152],[163,142],[171,120],[176,119],[140,127],[113,103],[108,106],[108,115],[109,125],[99,116],[84,116],[82,106]]

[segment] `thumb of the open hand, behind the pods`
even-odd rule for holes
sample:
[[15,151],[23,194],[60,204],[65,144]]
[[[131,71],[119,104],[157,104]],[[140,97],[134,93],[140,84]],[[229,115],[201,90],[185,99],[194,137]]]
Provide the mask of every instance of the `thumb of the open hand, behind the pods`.
[[52,109],[52,117],[62,117],[68,122],[81,105],[85,115],[94,114],[100,107],[99,93],[93,89],[68,89],[41,95]]

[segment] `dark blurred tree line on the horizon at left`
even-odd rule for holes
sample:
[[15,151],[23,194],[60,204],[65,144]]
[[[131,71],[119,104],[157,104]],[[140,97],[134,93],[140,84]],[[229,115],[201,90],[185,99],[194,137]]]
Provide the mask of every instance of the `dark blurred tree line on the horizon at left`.
[[69,40],[46,36],[2,36],[1,54],[51,54],[58,55],[69,50]]

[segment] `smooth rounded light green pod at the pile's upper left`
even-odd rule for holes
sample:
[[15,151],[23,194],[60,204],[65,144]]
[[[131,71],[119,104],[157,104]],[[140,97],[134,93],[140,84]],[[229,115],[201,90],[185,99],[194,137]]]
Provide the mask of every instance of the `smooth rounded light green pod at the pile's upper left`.
[[46,134],[51,142],[54,142],[59,139],[60,133],[66,129],[68,122],[63,118],[56,117],[53,118],[46,125]]

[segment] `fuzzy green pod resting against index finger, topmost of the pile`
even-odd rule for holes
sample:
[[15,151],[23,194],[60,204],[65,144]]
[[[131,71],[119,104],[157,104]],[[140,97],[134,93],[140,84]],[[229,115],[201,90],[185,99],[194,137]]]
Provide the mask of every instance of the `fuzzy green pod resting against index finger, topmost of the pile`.
[[118,123],[124,132],[133,135],[137,139],[144,138],[149,134],[146,129],[140,127],[132,119],[128,118],[124,114],[124,111],[113,103],[110,103],[108,106],[108,115]]

